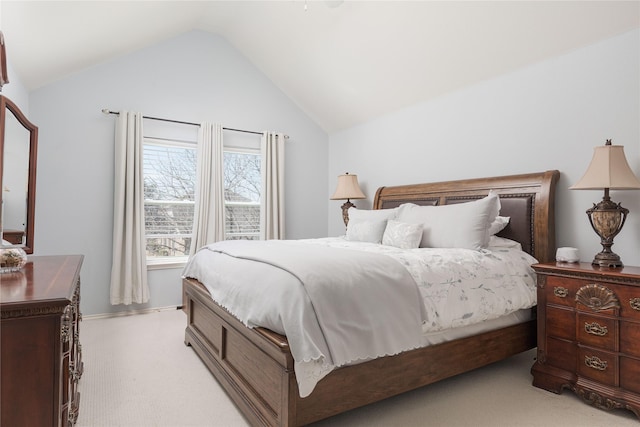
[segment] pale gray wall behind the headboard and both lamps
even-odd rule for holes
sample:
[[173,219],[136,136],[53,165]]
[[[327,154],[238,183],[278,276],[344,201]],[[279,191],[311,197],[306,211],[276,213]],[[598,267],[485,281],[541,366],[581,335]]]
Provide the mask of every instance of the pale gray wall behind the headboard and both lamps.
[[[593,147],[624,145],[640,176],[640,30],[397,111],[330,135],[330,194],[336,177],[358,175],[370,208],[383,185],[558,169],[557,244],[584,261],[602,248],[585,210],[602,191],[569,191]],[[429,76],[425,76],[429,78]],[[631,211],[614,252],[640,265],[640,191],[611,191]],[[344,233],[341,201],[329,203],[329,234]]]

